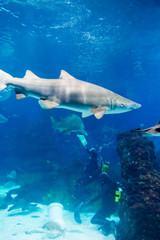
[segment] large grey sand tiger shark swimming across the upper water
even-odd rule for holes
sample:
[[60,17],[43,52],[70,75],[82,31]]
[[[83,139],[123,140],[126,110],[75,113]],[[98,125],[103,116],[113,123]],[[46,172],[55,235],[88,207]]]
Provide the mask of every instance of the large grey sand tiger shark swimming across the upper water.
[[141,107],[110,90],[92,83],[78,80],[61,71],[59,79],[39,78],[27,70],[23,78],[14,78],[0,70],[0,90],[11,86],[16,99],[34,97],[39,99],[43,109],[65,108],[82,113],[82,117],[92,114],[97,119],[104,114],[128,112]]

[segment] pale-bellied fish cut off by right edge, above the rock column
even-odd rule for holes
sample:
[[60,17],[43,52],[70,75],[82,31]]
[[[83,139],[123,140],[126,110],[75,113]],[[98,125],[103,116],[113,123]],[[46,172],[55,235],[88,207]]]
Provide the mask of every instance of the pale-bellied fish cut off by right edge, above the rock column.
[[131,132],[142,132],[144,135],[150,136],[150,137],[160,137],[160,121],[157,123],[157,125],[146,128],[146,129],[140,129],[137,128],[135,130],[131,130]]

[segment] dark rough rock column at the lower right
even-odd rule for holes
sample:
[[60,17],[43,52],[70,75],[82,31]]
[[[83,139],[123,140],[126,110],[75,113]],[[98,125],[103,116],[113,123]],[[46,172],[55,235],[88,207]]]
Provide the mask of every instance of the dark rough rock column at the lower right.
[[118,135],[123,194],[118,240],[158,240],[160,236],[160,171],[154,145],[138,133]]

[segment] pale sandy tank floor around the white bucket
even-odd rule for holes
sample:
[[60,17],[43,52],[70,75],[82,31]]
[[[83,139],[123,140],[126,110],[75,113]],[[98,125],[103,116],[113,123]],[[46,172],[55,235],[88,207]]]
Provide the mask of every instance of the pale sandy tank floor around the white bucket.
[[48,207],[41,204],[37,206],[37,211],[34,212],[22,212],[21,209],[10,212],[7,209],[0,210],[0,240],[115,240],[113,235],[104,236],[98,230],[98,225],[90,223],[93,213],[81,214],[82,224],[79,225],[74,220],[73,212],[64,210],[65,235],[45,230],[43,226],[48,222]]

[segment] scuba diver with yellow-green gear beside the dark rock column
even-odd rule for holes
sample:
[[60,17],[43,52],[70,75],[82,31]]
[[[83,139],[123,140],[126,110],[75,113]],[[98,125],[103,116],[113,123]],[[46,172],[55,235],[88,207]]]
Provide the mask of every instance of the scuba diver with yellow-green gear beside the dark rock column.
[[[87,165],[86,168],[88,168],[89,165],[90,163]],[[101,186],[100,193],[91,200],[82,201],[75,210],[74,218],[77,223],[81,224],[82,223],[82,220],[80,218],[81,209],[83,207],[91,205],[97,200],[101,200],[101,206],[92,217],[91,223],[100,225],[99,230],[103,231],[104,234],[109,235],[110,233],[112,233],[116,236],[115,221],[109,221],[106,218],[109,218],[112,214],[116,213],[118,207],[117,203],[119,202],[119,199],[121,197],[121,191],[118,190],[119,183],[114,182],[109,178],[107,173],[108,170],[109,162],[103,162],[101,160],[101,166],[99,166],[95,171],[96,178],[95,176],[92,177],[92,180],[94,179],[99,181]],[[88,173],[88,171],[86,171],[85,173]]]

